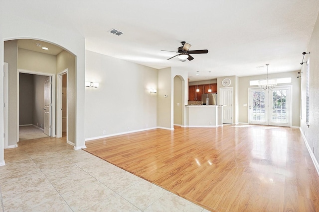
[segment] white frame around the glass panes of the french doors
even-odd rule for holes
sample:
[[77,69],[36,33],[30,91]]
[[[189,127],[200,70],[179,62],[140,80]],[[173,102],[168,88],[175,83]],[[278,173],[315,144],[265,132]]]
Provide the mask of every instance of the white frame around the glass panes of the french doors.
[[[259,125],[270,125],[270,123],[272,123],[270,126],[283,126],[283,127],[292,127],[293,126],[293,86],[292,85],[282,85],[282,86],[276,86],[274,88],[274,90],[276,89],[287,89],[289,88],[290,89],[290,94],[289,94],[289,105],[286,105],[287,108],[289,108],[289,114],[287,115],[287,119],[289,119],[289,123],[287,125],[285,124],[282,124],[282,125],[273,125],[272,122],[270,122],[269,118],[270,118],[270,112],[269,111],[269,107],[271,105],[269,105],[269,102],[270,102],[270,98],[269,98],[269,89],[267,89],[267,104],[268,104],[268,109],[267,109],[267,121],[265,123],[260,123]],[[251,93],[251,90],[262,90],[261,88],[258,88],[258,87],[249,87],[248,88],[248,104],[250,105],[250,101],[251,101],[251,96],[250,96],[250,93]],[[287,96],[288,97],[288,96]],[[271,98],[272,99],[272,98]],[[266,106],[265,106],[266,107]],[[251,117],[251,111],[249,109],[249,106],[248,106],[248,111],[247,111],[247,114],[248,114],[248,117],[247,117],[247,120],[248,120],[248,124],[250,124],[250,117]],[[258,125],[258,123],[253,123],[253,124],[256,124]]]

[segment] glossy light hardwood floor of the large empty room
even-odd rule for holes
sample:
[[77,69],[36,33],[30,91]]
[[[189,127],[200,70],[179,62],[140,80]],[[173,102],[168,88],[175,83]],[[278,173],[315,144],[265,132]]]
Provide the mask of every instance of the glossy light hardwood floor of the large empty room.
[[86,151],[217,212],[319,211],[319,176],[299,129],[149,130]]

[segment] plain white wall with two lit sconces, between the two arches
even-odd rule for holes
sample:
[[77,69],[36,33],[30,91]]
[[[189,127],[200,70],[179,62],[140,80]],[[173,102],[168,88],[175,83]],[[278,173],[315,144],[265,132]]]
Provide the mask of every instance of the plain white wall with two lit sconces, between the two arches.
[[157,69],[86,51],[85,80],[86,140],[158,126]]

